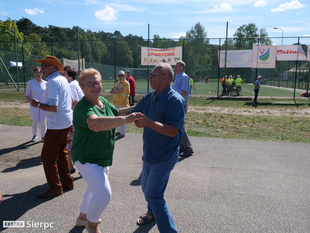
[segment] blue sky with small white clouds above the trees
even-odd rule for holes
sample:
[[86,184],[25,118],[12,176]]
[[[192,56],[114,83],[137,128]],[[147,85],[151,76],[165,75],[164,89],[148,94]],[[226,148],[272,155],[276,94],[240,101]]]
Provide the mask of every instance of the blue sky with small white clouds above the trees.
[[[206,27],[209,38],[225,37],[228,21],[228,37],[248,23],[265,27],[273,37],[282,36],[274,27],[281,28],[284,36],[310,36],[309,7],[309,0],[17,0],[0,2],[0,20],[25,17],[42,27],[79,26],[112,32],[148,24],[180,27],[173,36],[169,32],[160,35],[166,38],[184,35],[198,21]],[[219,30],[220,34],[216,32]],[[123,35],[131,33],[120,31]]]

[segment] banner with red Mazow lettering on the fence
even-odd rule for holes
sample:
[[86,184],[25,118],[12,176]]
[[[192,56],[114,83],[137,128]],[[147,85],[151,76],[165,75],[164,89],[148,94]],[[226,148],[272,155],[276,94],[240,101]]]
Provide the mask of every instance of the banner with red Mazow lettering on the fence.
[[278,45],[277,61],[307,61],[301,45]]

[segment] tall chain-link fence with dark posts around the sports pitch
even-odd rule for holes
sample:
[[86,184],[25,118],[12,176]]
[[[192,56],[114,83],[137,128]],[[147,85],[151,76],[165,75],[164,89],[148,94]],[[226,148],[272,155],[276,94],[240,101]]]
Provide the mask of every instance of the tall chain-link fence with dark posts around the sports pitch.
[[[260,96],[295,97],[308,92],[309,62],[307,61],[276,61],[275,69],[255,69],[251,67],[220,66],[220,62],[228,64],[224,54],[230,50],[252,50],[252,45],[283,45],[301,44],[307,55],[307,45],[310,37],[283,38],[230,38],[230,39],[106,39],[106,40],[71,40],[71,41],[40,41],[17,42],[17,53],[12,53],[14,42],[0,42],[0,89],[25,89],[27,81],[31,80],[33,68],[39,66],[34,59],[45,56],[34,56],[24,52],[46,50],[45,54],[70,60],[84,59],[79,64],[79,72],[93,67],[100,71],[103,78],[103,90],[110,89],[115,82],[119,70],[130,70],[136,81],[136,93],[147,93],[152,89],[148,85],[148,73],[154,65],[141,65],[140,47],[173,48],[182,46],[182,60],[186,64],[185,73],[195,82],[197,94],[219,96],[222,92],[220,80],[227,75],[241,76],[244,84],[243,95],[254,96],[255,80],[262,76]],[[227,46],[226,46],[227,45]],[[279,45],[279,44],[278,44]],[[15,49],[14,49],[15,50]],[[32,52],[34,53],[34,52]],[[43,55],[43,54],[42,54]],[[22,62],[23,66],[16,68],[10,62]],[[237,55],[235,57],[238,59]],[[219,62],[220,59],[220,62]],[[230,61],[231,62],[231,61]],[[296,69],[297,67],[297,69]],[[173,66],[174,68],[174,66]],[[79,74],[78,72],[78,74]],[[206,81],[206,77],[207,80]],[[193,93],[192,93],[193,94]]]

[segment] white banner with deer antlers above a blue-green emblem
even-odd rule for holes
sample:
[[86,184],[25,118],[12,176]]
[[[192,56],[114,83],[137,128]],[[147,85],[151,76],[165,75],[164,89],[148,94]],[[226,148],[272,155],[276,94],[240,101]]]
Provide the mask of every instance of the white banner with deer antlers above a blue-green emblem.
[[276,45],[254,45],[252,68],[276,68]]

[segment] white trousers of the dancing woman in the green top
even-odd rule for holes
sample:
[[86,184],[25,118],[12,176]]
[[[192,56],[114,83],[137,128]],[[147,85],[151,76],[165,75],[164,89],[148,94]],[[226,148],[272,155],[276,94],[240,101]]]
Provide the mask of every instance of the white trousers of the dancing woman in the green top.
[[88,184],[84,194],[80,212],[87,214],[89,222],[99,222],[102,212],[111,199],[111,187],[108,181],[109,167],[101,167],[94,163],[82,164],[75,161],[74,165]]

